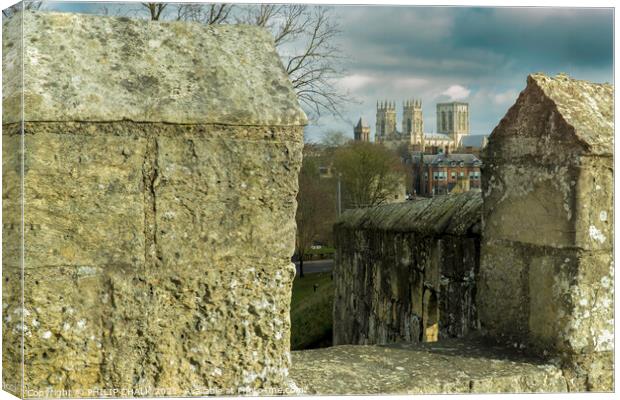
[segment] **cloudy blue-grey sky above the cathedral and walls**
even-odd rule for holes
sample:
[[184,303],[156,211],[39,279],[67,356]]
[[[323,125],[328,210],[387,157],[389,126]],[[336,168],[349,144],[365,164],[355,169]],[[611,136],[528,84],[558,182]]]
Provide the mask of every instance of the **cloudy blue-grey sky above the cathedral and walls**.
[[[134,3],[133,6],[137,5]],[[94,5],[49,3],[62,11]],[[343,118],[312,122],[306,141],[337,130],[353,136],[363,117],[375,133],[377,100],[421,99],[424,127],[436,131],[435,104],[470,104],[472,134],[489,134],[525,88],[527,75],[560,72],[613,83],[613,10],[332,6],[345,73],[334,82],[353,101]]]

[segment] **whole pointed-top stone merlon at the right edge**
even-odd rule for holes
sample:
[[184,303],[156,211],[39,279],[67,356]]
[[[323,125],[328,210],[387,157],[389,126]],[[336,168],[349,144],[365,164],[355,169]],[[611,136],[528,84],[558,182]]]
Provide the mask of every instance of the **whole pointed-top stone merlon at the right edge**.
[[482,329],[559,356],[571,390],[611,390],[613,86],[531,75],[489,138]]

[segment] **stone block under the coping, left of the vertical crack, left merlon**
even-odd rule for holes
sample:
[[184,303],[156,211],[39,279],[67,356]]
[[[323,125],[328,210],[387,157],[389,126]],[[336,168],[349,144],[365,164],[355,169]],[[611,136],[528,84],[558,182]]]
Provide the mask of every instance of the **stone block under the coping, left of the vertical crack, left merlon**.
[[25,133],[25,268],[144,262],[145,140],[60,124]]

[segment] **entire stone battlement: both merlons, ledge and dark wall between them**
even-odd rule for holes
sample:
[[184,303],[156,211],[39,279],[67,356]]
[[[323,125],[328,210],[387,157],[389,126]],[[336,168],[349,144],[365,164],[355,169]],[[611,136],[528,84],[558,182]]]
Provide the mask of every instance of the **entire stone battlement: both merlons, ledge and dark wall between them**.
[[270,35],[28,12],[3,39],[6,390],[613,390],[610,85],[529,77],[482,194],[346,212],[347,345],[291,355],[306,117]]

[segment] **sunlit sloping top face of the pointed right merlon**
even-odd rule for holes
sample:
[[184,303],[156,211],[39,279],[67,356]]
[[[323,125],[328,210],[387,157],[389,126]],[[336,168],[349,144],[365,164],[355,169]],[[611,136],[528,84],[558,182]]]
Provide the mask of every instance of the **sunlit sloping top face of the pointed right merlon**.
[[577,139],[593,153],[613,153],[614,87],[609,83],[593,83],[537,73],[528,76],[526,91],[542,90],[564,121],[574,128]]

